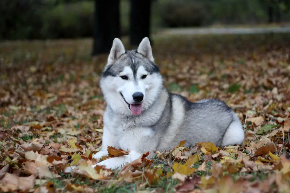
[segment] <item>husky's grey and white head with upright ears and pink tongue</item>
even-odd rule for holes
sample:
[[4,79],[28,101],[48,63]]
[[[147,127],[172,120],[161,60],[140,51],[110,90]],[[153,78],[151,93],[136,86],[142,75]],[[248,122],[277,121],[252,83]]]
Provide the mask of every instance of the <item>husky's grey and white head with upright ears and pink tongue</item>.
[[107,105],[114,112],[140,115],[159,97],[163,80],[145,37],[137,50],[125,50],[115,38],[101,79]]

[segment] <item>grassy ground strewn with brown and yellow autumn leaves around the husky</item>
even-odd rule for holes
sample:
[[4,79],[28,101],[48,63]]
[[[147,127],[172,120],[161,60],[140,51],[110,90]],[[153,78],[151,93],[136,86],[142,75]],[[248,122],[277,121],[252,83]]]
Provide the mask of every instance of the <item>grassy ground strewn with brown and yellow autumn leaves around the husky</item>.
[[[244,125],[242,145],[203,142],[187,149],[182,141],[121,171],[93,169],[102,142],[99,80],[107,54],[91,58],[90,39],[2,42],[0,190],[289,192],[289,34],[153,40],[169,90],[191,101],[224,100]],[[111,157],[128,153],[108,151]],[[64,174],[69,165],[79,165],[79,172]]]

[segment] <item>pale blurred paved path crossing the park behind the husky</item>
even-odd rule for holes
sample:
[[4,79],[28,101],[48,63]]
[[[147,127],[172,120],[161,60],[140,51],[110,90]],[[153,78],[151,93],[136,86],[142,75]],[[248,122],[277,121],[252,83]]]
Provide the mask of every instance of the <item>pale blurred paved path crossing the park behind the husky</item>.
[[263,34],[289,33],[290,27],[267,28],[171,28],[160,31],[160,34],[191,35],[191,34]]

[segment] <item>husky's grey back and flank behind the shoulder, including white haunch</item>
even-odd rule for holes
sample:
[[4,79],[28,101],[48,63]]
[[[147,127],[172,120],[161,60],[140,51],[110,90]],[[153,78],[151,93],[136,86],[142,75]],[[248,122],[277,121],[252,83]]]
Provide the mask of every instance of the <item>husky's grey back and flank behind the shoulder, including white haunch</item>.
[[171,149],[183,140],[186,140],[186,146],[203,141],[222,146],[240,144],[244,140],[240,120],[224,102],[204,99],[191,103],[171,93],[168,97],[172,101],[170,123],[166,132],[161,134],[164,137],[157,149]]

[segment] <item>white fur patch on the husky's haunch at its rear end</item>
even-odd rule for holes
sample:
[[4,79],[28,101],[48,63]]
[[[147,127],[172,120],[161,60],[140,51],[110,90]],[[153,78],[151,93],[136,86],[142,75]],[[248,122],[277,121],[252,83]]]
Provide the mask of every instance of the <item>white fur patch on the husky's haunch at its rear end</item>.
[[241,144],[244,141],[244,131],[239,118],[234,114],[234,121],[224,134],[222,146],[230,144]]

